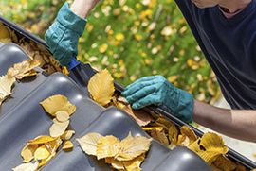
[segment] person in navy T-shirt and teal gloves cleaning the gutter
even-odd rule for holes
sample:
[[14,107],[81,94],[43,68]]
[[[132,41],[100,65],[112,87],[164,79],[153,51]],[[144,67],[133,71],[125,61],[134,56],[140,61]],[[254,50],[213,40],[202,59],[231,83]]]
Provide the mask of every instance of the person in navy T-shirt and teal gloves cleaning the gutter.
[[[99,0],[75,0],[46,31],[56,60],[76,57],[86,17]],[[210,63],[231,110],[193,99],[162,76],[142,77],[122,93],[134,109],[163,106],[177,118],[230,137],[256,142],[256,0],[176,0]],[[170,66],[171,68],[171,66]]]

